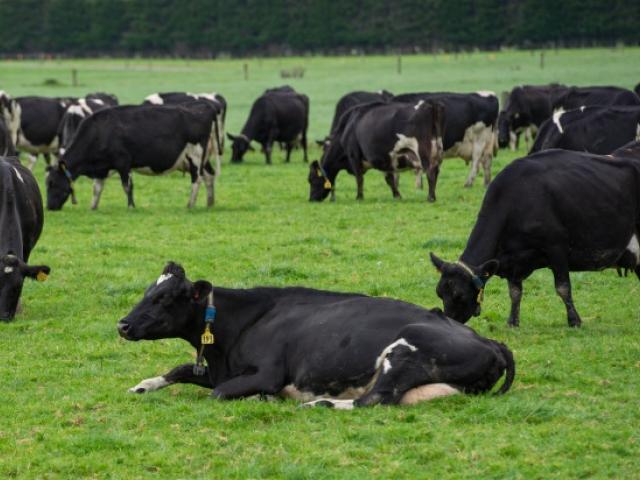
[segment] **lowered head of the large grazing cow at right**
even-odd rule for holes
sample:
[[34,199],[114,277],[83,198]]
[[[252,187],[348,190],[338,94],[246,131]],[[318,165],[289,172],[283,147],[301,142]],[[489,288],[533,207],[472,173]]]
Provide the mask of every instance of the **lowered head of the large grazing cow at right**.
[[445,262],[432,253],[431,262],[441,274],[436,293],[442,299],[445,315],[461,323],[480,315],[484,286],[498,270],[498,261],[474,267]]

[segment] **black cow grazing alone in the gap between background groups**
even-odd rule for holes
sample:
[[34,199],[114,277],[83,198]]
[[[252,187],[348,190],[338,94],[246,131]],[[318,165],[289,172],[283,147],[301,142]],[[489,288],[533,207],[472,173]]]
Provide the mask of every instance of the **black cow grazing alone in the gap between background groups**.
[[300,143],[307,162],[307,127],[309,126],[309,97],[280,87],[265,91],[251,107],[249,118],[240,135],[227,134],[233,142],[231,161],[241,162],[247,150],[253,150],[251,142],[262,145],[267,164],[271,164],[271,151],[275,142],[285,144],[286,159]]

